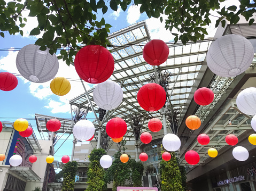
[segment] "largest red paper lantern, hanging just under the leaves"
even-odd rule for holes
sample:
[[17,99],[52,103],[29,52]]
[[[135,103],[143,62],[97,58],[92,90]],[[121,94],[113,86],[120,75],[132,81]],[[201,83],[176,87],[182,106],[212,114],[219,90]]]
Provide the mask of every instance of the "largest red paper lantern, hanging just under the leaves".
[[112,54],[103,46],[88,45],[77,52],[75,70],[84,81],[99,84],[112,75],[114,59]]

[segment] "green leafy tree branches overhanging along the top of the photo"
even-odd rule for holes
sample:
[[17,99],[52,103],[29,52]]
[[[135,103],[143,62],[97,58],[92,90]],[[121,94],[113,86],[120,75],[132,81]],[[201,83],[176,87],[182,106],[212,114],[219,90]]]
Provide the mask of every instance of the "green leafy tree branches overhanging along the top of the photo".
[[[231,24],[239,21],[243,15],[249,24],[254,22],[255,0],[241,0],[239,6],[223,7],[220,3],[227,0],[14,0],[6,3],[0,0],[0,35],[9,31],[11,35],[23,35],[27,19],[22,11],[28,10],[29,15],[36,17],[38,26],[30,31],[30,35],[43,34],[36,40],[41,50],[50,48],[50,53],[60,49],[58,59],[63,59],[69,65],[73,62],[78,49],[89,44],[106,47],[107,36],[112,27],[105,23],[104,14],[109,10],[123,11],[129,5],[139,5],[140,12],[149,18],[159,18],[165,22],[165,28],[175,36],[174,41],[203,40],[207,35],[206,26],[210,26],[211,10],[219,10],[215,27],[219,23],[224,26],[225,20]],[[102,16],[101,16],[102,15]],[[98,18],[97,18],[98,17]],[[173,32],[176,29],[176,33]]]

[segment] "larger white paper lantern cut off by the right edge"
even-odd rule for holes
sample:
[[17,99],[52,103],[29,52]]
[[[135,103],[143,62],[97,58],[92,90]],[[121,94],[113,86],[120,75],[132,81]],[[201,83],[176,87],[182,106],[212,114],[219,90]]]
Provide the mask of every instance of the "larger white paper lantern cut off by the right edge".
[[236,98],[236,105],[247,115],[256,114],[256,88],[246,88]]

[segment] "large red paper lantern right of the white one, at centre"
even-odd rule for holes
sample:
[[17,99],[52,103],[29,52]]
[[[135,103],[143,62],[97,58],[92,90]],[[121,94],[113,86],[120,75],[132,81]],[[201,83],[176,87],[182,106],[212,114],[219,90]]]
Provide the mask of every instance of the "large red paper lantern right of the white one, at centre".
[[157,111],[165,105],[165,89],[159,84],[146,84],[138,90],[138,104],[146,111]]

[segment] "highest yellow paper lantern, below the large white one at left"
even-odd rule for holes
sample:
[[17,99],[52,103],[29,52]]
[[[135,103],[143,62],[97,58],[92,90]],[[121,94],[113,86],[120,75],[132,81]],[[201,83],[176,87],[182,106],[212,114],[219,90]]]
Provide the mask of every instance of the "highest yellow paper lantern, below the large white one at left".
[[70,91],[71,85],[66,78],[57,77],[51,81],[50,88],[53,94],[63,96]]

